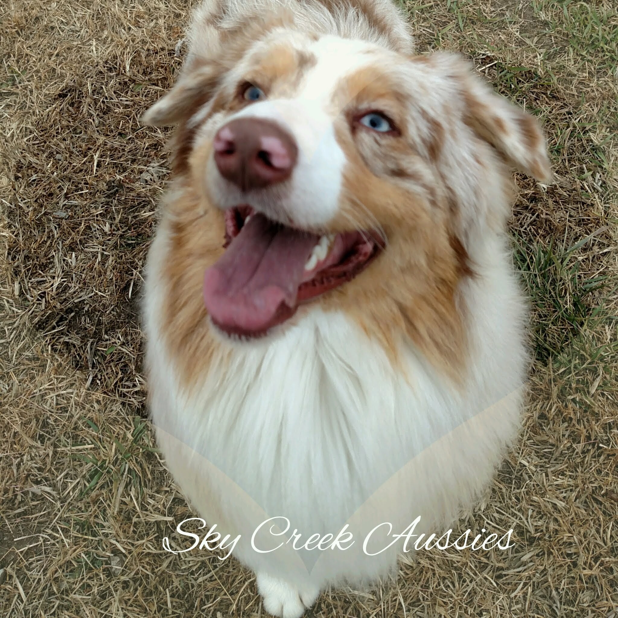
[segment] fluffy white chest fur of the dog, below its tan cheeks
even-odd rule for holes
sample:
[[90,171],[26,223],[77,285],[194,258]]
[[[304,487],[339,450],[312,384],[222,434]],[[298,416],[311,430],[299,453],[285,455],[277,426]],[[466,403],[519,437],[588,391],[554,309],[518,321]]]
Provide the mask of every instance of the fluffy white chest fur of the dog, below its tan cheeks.
[[[397,547],[366,556],[368,531],[381,522],[401,531],[421,515],[423,530],[437,532],[488,483],[517,435],[525,370],[522,306],[499,247],[464,295],[472,353],[460,387],[411,345],[396,368],[347,316],[314,310],[277,339],[235,345],[229,362],[215,356],[189,395],[161,337],[165,235],[163,225],[146,279],[152,417],[172,474],[210,525],[242,535],[235,555],[245,564],[298,585],[316,561],[307,577],[318,587],[375,577]],[[290,544],[268,554],[251,546],[276,516],[290,520],[276,544],[294,529],[304,541],[346,522],[357,541],[337,556],[296,552],[294,573],[298,558],[281,559]]]

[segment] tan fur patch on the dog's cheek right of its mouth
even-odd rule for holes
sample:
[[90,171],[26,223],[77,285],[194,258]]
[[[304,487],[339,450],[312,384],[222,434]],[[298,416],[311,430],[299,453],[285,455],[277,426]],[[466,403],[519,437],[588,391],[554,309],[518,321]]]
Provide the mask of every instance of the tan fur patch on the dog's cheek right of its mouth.
[[[366,271],[324,297],[342,308],[398,360],[401,332],[430,362],[456,381],[464,374],[467,339],[457,287],[468,276],[467,255],[454,239],[446,200],[431,179],[415,177],[417,190],[378,177],[363,163],[349,132],[339,125],[337,141],[349,161],[344,171],[341,214],[333,227],[386,233],[387,247]],[[424,193],[424,198],[423,198]]]

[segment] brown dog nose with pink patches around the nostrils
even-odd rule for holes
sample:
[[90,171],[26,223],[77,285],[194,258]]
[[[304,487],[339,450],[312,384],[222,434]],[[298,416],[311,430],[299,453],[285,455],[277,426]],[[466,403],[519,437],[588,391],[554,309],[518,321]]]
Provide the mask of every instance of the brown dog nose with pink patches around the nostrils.
[[273,121],[237,118],[214,136],[214,162],[221,176],[243,191],[274,185],[292,174],[298,148]]

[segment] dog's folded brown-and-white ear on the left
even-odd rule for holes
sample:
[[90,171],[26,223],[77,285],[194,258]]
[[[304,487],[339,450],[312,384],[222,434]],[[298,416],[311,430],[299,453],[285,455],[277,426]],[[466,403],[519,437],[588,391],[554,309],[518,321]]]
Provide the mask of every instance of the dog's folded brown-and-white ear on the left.
[[177,124],[207,103],[219,86],[221,69],[216,64],[201,66],[181,75],[172,90],[162,96],[140,118],[152,127]]

